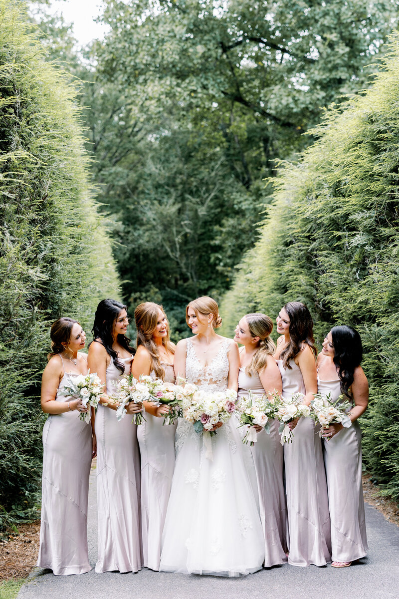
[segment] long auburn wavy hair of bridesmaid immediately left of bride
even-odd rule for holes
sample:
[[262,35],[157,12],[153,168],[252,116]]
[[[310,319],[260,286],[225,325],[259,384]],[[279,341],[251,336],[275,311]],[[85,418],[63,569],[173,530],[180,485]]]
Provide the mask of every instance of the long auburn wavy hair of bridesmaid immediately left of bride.
[[[153,339],[154,331],[158,324],[158,311],[161,310],[166,317],[162,305],[154,304],[154,302],[146,301],[139,304],[135,310],[135,321],[137,329],[136,346],[144,346],[151,359],[151,371],[154,371],[155,376],[159,379],[165,377],[165,370],[162,367],[157,344]],[[175,353],[175,346],[170,341],[169,322],[166,318],[166,337],[162,338],[162,345],[168,353]]]

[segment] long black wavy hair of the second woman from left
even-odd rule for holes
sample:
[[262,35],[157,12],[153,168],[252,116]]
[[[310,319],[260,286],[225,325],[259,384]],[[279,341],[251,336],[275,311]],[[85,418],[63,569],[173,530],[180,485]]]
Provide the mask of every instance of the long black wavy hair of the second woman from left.
[[[118,360],[118,354],[112,349],[114,337],[115,322],[122,310],[127,310],[127,306],[115,299],[102,299],[97,306],[95,319],[93,323],[92,333],[93,339],[99,339],[106,349],[106,352],[111,356],[112,362],[121,373],[124,373],[124,364]],[[130,339],[126,335],[118,334],[117,341],[121,347],[130,353],[135,353],[133,347],[130,347]],[[92,341],[93,343],[93,341]],[[90,343],[91,345],[91,343]]]

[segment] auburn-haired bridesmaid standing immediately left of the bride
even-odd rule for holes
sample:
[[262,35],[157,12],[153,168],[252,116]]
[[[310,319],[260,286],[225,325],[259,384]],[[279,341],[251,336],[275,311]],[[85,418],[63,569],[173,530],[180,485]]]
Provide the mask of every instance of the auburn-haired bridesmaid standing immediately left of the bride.
[[[153,302],[138,305],[135,310],[137,352],[132,374],[175,382],[173,354],[169,341],[169,323],[163,307]],[[141,454],[141,529],[143,565],[159,570],[161,536],[165,523],[167,501],[175,467],[175,425],[163,425],[167,406],[145,402],[145,422],[138,427],[137,438]]]

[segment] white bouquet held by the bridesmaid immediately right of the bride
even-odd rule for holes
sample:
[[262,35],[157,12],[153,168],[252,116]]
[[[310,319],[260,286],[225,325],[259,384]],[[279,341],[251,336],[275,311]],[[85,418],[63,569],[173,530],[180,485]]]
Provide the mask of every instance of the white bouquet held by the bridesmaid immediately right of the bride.
[[276,418],[278,412],[278,403],[275,400],[277,394],[267,399],[266,395],[252,395],[249,391],[248,397],[243,397],[240,401],[240,426],[249,425],[242,442],[249,443],[251,446],[257,442],[257,432],[254,424],[263,426],[267,434],[270,434],[269,419]]

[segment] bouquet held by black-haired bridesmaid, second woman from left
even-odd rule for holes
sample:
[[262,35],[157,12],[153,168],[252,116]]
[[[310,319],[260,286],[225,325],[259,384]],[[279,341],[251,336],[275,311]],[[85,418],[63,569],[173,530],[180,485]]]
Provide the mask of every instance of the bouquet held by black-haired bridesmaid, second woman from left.
[[[154,383],[154,381],[150,376],[140,377],[138,381],[132,374],[118,380],[115,384],[115,392],[110,395],[112,403],[119,404],[117,407],[118,422],[127,413],[126,404],[129,404],[131,401],[135,404],[142,404],[143,401],[153,401],[150,392],[150,389],[152,389],[151,383]],[[145,418],[141,407],[141,412],[135,413],[132,422],[139,425],[143,420]]]

